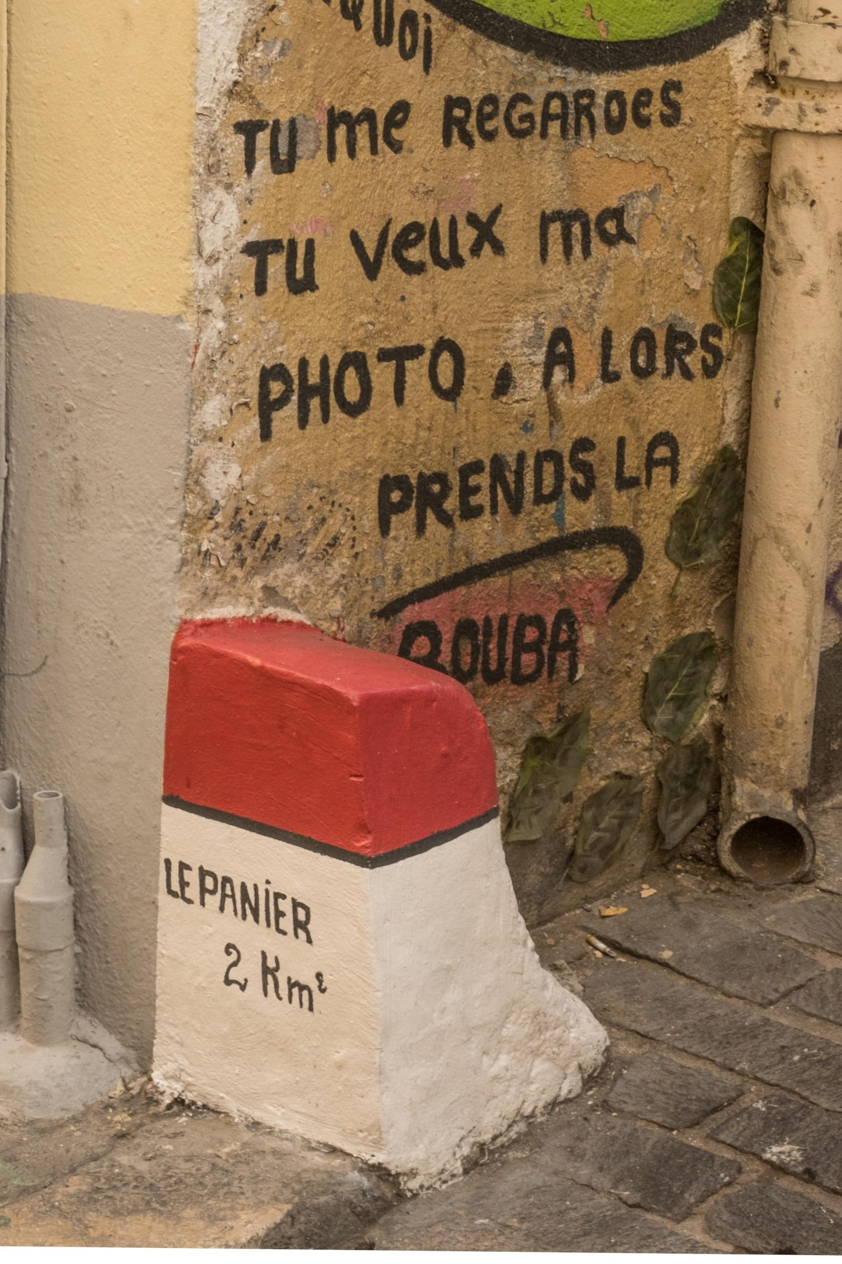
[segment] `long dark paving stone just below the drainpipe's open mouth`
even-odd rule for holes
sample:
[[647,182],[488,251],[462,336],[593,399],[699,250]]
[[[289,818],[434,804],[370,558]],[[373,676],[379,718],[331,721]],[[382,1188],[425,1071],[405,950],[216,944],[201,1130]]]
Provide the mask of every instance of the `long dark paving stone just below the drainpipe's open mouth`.
[[759,1005],[771,1005],[822,969],[778,935],[746,930],[703,904],[674,897],[641,900],[621,916],[589,918],[588,929],[622,952]]

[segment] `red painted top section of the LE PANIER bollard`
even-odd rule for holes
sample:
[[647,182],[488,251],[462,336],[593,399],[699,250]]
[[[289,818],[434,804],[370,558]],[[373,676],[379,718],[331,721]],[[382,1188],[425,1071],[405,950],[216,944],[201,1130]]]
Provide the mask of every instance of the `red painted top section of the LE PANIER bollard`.
[[305,623],[197,619],[172,646],[164,795],[382,856],[497,805],[468,690]]

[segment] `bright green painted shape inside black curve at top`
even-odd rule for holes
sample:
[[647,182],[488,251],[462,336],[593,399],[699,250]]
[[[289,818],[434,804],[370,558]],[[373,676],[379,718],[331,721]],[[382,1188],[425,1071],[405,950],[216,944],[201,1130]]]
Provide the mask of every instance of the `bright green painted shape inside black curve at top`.
[[[569,39],[656,39],[712,21],[729,0],[479,0],[487,9]],[[602,24],[602,28],[601,28]]]

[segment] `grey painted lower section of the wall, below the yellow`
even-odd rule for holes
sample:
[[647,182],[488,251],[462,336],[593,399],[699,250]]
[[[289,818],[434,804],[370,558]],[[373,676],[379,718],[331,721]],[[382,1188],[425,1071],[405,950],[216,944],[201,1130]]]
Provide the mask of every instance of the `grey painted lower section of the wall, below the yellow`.
[[191,340],[32,295],[8,340],[3,760],[67,796],[81,1000],[147,1062]]

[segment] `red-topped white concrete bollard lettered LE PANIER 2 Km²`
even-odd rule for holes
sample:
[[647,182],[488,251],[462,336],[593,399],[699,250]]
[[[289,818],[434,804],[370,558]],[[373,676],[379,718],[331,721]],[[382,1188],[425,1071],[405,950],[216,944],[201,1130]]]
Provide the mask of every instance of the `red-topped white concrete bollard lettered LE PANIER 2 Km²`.
[[420,1186],[575,1095],[606,1044],[539,964],[461,685],[301,623],[182,626],[161,1087]]

